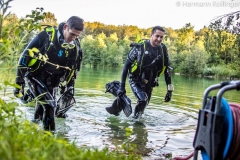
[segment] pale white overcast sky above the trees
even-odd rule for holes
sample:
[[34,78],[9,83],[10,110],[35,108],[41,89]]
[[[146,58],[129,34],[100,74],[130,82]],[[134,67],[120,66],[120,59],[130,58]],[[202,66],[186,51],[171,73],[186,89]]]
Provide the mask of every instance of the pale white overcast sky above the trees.
[[43,7],[58,23],[75,15],[106,25],[180,29],[190,23],[199,30],[218,16],[239,11],[240,0],[13,0],[10,6],[18,18]]

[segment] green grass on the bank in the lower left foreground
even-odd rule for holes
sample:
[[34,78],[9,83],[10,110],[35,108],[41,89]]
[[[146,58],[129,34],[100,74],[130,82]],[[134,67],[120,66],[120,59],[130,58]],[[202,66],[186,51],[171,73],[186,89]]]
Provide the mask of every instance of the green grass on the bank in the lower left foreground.
[[78,148],[74,143],[56,138],[37,124],[16,114],[17,103],[0,98],[0,159],[1,160],[135,160],[136,154],[123,154],[107,149]]

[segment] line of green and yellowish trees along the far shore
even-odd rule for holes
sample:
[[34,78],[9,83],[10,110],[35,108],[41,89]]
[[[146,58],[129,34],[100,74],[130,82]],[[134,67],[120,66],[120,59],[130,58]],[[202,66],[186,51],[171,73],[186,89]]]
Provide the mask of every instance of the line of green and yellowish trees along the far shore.
[[[190,23],[180,29],[163,26],[166,30],[163,43],[168,48],[173,72],[240,77],[239,12],[214,19],[209,26],[198,31]],[[54,14],[44,12],[43,8],[32,10],[24,18],[3,10],[0,14],[1,65],[16,67],[24,47],[43,29],[43,25],[58,25]],[[84,53],[82,65],[121,68],[131,49],[130,44],[150,38],[150,32],[151,28],[132,25],[85,22],[85,29],[79,37]]]

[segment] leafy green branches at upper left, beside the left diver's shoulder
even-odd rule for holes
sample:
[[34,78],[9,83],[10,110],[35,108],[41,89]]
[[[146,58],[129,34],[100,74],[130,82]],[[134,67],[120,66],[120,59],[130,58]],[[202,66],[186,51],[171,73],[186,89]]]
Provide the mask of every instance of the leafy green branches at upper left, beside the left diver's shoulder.
[[[0,14],[0,59],[6,66],[16,66],[16,59],[25,45],[25,38],[32,30],[41,28],[40,21],[44,18],[43,8],[32,11],[31,15],[18,20],[15,15],[7,12],[12,0],[1,2]],[[12,23],[15,22],[15,23]]]

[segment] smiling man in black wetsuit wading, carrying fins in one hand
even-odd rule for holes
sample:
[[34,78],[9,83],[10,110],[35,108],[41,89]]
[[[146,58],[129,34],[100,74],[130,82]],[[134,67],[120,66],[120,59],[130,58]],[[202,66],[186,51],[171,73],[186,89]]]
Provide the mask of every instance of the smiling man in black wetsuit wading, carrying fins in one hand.
[[132,44],[133,48],[125,61],[117,94],[120,96],[126,93],[125,81],[128,75],[132,92],[138,99],[133,116],[135,119],[143,114],[150,101],[153,87],[158,86],[157,78],[161,74],[165,75],[167,85],[165,102],[171,100],[173,85],[167,47],[162,43],[164,34],[165,30],[162,27],[153,27],[150,40]]

